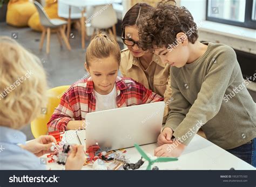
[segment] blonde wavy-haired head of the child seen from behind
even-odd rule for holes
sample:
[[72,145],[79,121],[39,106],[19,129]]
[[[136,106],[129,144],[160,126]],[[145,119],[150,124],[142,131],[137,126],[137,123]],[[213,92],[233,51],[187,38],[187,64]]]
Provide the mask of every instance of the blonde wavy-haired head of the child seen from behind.
[[20,129],[46,102],[41,61],[15,40],[0,37],[0,126]]

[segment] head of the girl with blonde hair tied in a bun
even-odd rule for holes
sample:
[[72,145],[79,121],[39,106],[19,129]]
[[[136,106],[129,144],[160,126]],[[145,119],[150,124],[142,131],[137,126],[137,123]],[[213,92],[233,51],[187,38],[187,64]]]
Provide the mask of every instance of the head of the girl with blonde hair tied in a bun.
[[120,47],[106,34],[98,34],[86,49],[85,68],[90,73],[96,92],[108,94],[116,82],[121,61]]

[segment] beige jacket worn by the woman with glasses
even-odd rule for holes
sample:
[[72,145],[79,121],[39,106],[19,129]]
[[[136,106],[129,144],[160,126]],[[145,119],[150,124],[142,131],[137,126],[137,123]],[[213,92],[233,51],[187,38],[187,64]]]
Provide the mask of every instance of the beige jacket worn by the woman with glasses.
[[146,88],[151,89],[154,93],[164,98],[166,105],[163,123],[165,123],[169,113],[168,104],[170,103],[170,101],[167,101],[171,98],[172,94],[170,65],[162,63],[160,57],[154,54],[150,66],[147,68],[148,76],[146,76],[145,70],[140,65],[138,58],[133,57],[128,49],[124,49],[121,51],[120,72],[124,77],[140,82]]

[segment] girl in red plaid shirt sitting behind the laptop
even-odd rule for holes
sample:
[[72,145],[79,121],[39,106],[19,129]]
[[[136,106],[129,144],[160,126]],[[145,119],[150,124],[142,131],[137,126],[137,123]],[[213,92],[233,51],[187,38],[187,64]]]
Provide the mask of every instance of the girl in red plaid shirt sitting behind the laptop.
[[84,129],[87,113],[163,101],[161,96],[131,78],[118,77],[120,48],[105,34],[86,49],[85,68],[91,77],[76,82],[64,93],[48,122],[49,131]]

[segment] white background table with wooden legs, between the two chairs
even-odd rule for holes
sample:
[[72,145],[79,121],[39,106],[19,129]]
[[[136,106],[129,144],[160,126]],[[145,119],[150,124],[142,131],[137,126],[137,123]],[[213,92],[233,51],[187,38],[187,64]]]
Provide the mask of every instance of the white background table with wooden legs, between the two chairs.
[[69,38],[70,27],[71,27],[71,6],[76,6],[81,9],[82,17],[80,19],[81,23],[81,34],[82,34],[82,48],[85,49],[85,7],[86,6],[97,6],[104,4],[120,3],[122,0],[59,0],[59,2],[69,5],[69,19],[68,19],[68,28],[67,28],[67,37]]

